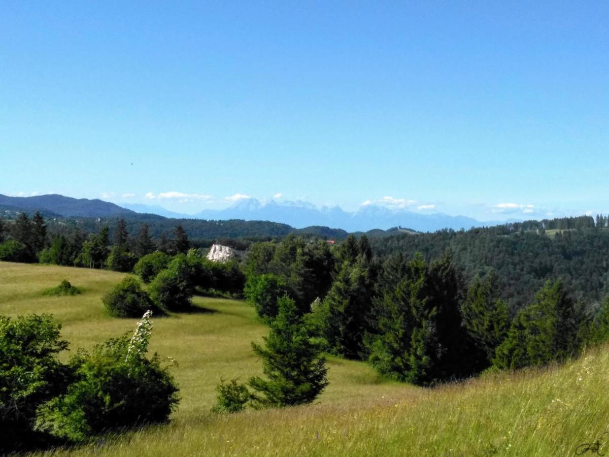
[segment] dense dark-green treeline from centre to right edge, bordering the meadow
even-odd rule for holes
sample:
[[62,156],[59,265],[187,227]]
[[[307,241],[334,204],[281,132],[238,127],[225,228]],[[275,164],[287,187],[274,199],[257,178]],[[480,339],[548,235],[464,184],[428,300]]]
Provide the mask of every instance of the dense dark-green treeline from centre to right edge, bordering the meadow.
[[328,352],[420,385],[564,360],[609,337],[609,299],[591,314],[555,278],[510,310],[498,272],[468,280],[449,249],[381,261],[365,236],[336,248],[288,236],[252,246],[245,273],[262,319],[289,296]]

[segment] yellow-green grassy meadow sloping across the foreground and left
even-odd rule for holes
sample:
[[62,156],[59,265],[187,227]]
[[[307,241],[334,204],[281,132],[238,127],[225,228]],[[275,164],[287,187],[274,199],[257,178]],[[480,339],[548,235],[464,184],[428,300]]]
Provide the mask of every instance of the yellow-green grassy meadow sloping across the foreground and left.
[[[135,319],[108,317],[100,300],[122,276],[0,263],[0,313],[52,313],[71,348],[90,348],[135,327]],[[41,294],[62,279],[83,294]],[[198,313],[153,321],[151,349],[178,361],[173,372],[181,402],[172,422],[47,454],[568,456],[596,439],[600,453],[609,450],[609,434],[603,436],[609,432],[609,347],[563,366],[436,389],[385,381],[364,363],[329,358],[330,384],[314,405],[211,414],[220,378],[260,374],[250,342],[267,330],[243,302],[196,297],[195,303]]]

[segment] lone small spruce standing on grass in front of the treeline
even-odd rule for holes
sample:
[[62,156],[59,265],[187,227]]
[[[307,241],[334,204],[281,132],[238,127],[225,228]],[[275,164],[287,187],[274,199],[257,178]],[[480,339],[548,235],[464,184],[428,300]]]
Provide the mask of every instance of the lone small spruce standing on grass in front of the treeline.
[[264,347],[252,343],[267,379],[253,377],[248,384],[262,406],[311,403],[328,385],[323,343],[314,327],[300,316],[294,300],[284,296],[278,308]]

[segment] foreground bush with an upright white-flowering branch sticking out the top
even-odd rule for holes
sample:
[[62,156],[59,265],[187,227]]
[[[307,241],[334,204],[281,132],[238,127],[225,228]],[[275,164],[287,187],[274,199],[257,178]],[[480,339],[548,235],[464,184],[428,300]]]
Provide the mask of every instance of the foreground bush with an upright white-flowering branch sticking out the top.
[[108,430],[169,419],[178,388],[157,354],[146,358],[150,314],[144,314],[131,339],[108,339],[91,353],[80,351],[71,358],[76,381],[41,407],[41,428],[83,441]]

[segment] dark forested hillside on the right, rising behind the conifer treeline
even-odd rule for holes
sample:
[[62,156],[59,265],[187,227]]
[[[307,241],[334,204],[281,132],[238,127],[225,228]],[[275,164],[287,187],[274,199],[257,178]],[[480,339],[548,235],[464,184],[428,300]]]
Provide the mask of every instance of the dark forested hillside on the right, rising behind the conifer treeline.
[[[572,218],[571,222],[575,218]],[[577,299],[594,303],[609,294],[609,228],[595,227],[588,218],[580,228],[566,228],[568,219],[557,219],[564,230],[539,230],[535,224],[473,228],[468,231],[441,230],[418,235],[371,238],[375,255],[381,259],[393,253],[438,258],[446,248],[463,269],[467,279],[495,269],[502,296],[512,310],[530,301],[548,279],[561,278]],[[546,224],[555,226],[552,224]]]

